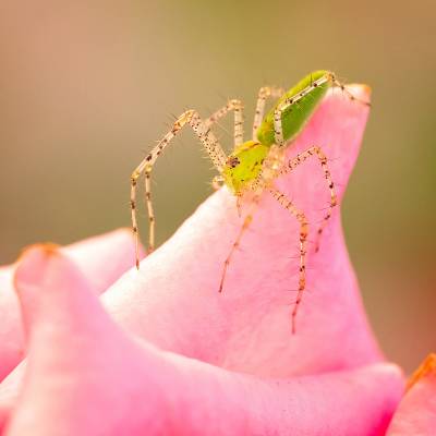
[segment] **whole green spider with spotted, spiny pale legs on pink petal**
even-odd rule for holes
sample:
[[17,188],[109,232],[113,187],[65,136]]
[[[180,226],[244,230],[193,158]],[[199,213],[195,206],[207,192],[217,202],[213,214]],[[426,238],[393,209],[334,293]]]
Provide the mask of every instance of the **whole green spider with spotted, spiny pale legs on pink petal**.
[[[324,171],[324,177],[330,192],[330,202],[327,213],[317,230],[315,251],[318,249],[319,238],[323,230],[331,217],[338,198],[335,185],[331,180],[327,165],[327,157],[317,145],[313,145],[295,158],[286,161],[284,149],[292,144],[292,141],[301,132],[305,123],[311,118],[313,111],[320,102],[326,92],[330,87],[339,87],[346,96],[356,100],[329,71],[315,71],[305,76],[294,87],[284,93],[281,88],[262,87],[258,92],[256,111],[253,123],[253,140],[243,141],[243,105],[240,100],[232,99],[228,104],[213,113],[209,118],[202,120],[198,112],[187,110],[182,113],[173,123],[172,129],[160,140],[145,159],[137,166],[131,175],[131,211],[133,232],[136,242],[136,267],[140,268],[138,257],[138,229],[136,221],[136,184],[142,173],[145,173],[145,199],[149,220],[148,252],[155,246],[155,215],[152,204],[152,183],[150,174],[153,166],[158,156],[164,152],[177,133],[189,124],[198,136],[201,143],[209,155],[219,175],[214,178],[214,187],[226,184],[237,196],[239,207],[240,199],[245,193],[251,192],[251,205],[253,206],[246,214],[243,225],[235,238],[235,241],[223,262],[219,292],[222,291],[226,274],[234,250],[240,245],[245,230],[249,228],[253,218],[253,208],[257,205],[264,191],[268,191],[279,204],[284,207],[298,220],[300,225],[300,267],[299,286],[296,300],[292,310],[292,332],[295,332],[295,318],[301,304],[303,292],[306,287],[306,243],[308,234],[308,221],[303,210],[299,209],[284,194],[274,186],[274,180],[282,174],[292,171],[295,167],[303,164],[310,157],[316,157]],[[265,102],[268,97],[279,97],[274,108],[264,118]],[[359,102],[368,105],[364,101]],[[295,110],[294,110],[295,109]],[[226,156],[221,145],[210,130],[210,126],[220,120],[228,112],[234,112],[234,149]]]

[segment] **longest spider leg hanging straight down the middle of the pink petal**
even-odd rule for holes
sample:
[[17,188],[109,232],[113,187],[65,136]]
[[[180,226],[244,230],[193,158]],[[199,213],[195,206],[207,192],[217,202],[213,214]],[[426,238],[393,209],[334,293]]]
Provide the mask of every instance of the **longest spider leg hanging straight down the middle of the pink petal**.
[[269,186],[268,191],[272,195],[274,198],[276,198],[281,206],[283,206],[287,210],[289,210],[299,221],[300,223],[300,267],[299,267],[299,289],[296,292],[296,300],[293,305],[292,310],[292,334],[295,334],[295,319],[296,319],[296,314],[299,312],[299,307],[301,304],[301,301],[303,299],[303,293],[306,288],[306,242],[307,242],[307,234],[308,234],[308,222],[307,218],[304,215],[304,213],[300,209],[298,209],[293,203],[286,197],[284,194],[281,192],[277,191],[275,187]]

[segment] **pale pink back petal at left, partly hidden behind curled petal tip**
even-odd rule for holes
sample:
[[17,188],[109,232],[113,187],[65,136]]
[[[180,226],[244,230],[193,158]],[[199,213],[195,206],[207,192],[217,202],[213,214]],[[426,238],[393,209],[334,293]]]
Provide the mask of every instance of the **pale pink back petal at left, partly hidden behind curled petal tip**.
[[[120,229],[64,249],[84,271],[93,291],[104,292],[132,264],[131,231]],[[0,268],[0,380],[23,359],[19,302],[13,291],[15,265]]]

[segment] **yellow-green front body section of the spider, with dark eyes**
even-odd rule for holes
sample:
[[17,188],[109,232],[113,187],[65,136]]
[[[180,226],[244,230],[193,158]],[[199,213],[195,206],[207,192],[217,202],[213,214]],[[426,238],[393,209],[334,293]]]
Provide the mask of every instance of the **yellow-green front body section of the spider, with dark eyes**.
[[222,177],[225,183],[235,195],[241,195],[258,177],[269,147],[255,141],[238,145],[228,156]]

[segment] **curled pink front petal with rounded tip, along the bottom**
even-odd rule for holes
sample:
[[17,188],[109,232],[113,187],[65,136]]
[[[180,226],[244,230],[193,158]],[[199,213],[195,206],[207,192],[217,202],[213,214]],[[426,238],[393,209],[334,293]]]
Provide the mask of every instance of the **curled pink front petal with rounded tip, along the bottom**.
[[50,249],[29,250],[15,283],[29,361],[8,436],[378,435],[401,393],[391,365],[274,380],[161,352]]

